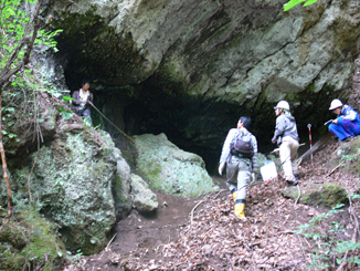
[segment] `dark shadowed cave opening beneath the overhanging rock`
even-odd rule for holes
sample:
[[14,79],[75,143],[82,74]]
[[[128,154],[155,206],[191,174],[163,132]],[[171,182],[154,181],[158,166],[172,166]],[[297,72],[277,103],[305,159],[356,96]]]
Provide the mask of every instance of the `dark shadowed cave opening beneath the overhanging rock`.
[[[68,74],[68,73],[67,73]],[[73,91],[78,90],[80,84],[68,84]],[[179,148],[200,155],[207,165],[207,170],[216,174],[219,158],[223,142],[230,128],[235,127],[242,115],[252,117],[250,131],[256,136],[258,152],[269,154],[277,146],[271,143],[275,128],[276,116],[274,105],[262,105],[261,110],[246,108],[218,102],[174,94],[153,84],[153,79],[141,85],[129,86],[104,86],[93,80],[91,91],[94,93],[95,106],[108,117],[115,125],[130,136],[140,134],[165,133],[170,142]],[[130,95],[130,93],[133,93]],[[317,97],[321,101],[324,97]],[[314,112],[307,107],[297,106],[293,111],[296,117],[300,143],[305,147],[299,148],[299,155],[309,146],[308,123],[311,123],[313,144],[327,133],[322,125],[331,116],[330,112]],[[120,135],[105,121],[95,110],[92,111],[94,126],[100,125],[115,138],[116,146],[121,148]],[[117,139],[116,139],[117,138]]]

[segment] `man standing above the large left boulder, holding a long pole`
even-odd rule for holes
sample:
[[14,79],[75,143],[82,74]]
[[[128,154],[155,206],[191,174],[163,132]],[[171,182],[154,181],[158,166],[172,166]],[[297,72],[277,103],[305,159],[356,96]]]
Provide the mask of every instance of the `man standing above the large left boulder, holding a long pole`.
[[89,92],[91,83],[88,80],[83,80],[82,88],[73,93],[73,104],[75,105],[76,114],[83,116],[92,124],[91,103],[93,103],[94,95]]

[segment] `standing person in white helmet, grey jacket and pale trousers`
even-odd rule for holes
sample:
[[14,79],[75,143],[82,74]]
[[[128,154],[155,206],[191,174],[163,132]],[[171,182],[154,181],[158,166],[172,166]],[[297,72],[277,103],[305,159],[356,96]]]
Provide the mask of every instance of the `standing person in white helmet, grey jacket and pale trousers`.
[[279,146],[279,156],[284,170],[284,178],[288,186],[298,185],[298,168],[295,157],[299,147],[299,136],[295,117],[292,116],[288,102],[280,101],[274,107],[276,126],[272,143]]

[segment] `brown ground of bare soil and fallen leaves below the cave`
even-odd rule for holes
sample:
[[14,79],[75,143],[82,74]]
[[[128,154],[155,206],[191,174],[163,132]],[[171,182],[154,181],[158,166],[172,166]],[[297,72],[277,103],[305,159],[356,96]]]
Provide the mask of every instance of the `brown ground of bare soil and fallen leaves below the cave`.
[[[336,183],[348,194],[358,192],[360,178],[343,173],[341,167],[326,168],[338,143],[325,142],[314,154],[314,166],[305,160],[299,170],[301,183]],[[114,239],[99,254],[82,257],[68,262],[64,270],[308,270],[314,249],[324,256],[319,240],[296,233],[327,209],[310,207],[285,199],[280,191],[285,181],[279,178],[250,187],[245,213],[246,222],[233,215],[234,202],[225,189],[225,178],[214,177],[221,190],[201,198],[179,198],[158,192],[159,209],[148,216],[133,210],[116,227]],[[359,242],[359,200],[351,208],[319,221],[314,229],[329,240],[331,221],[338,221],[345,231],[338,240]],[[359,250],[337,253],[338,259],[360,257]],[[346,261],[326,261],[328,267],[316,270],[360,270]]]

